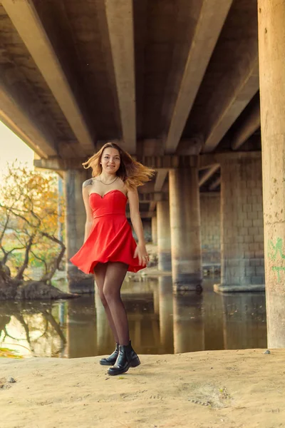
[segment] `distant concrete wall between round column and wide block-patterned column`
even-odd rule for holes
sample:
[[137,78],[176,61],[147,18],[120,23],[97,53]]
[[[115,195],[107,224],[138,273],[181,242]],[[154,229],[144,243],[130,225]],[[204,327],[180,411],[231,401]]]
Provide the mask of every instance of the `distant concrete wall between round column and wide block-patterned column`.
[[200,193],[203,266],[221,263],[220,203],[219,193]]

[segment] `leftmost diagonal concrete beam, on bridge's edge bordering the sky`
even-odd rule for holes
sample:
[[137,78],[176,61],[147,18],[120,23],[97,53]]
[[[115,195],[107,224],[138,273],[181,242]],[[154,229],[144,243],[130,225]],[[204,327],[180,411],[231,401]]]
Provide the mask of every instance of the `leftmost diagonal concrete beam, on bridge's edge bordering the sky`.
[[[38,128],[25,110],[0,82],[0,120],[19,136],[38,156],[56,156],[56,141]],[[8,148],[9,149],[9,148]]]

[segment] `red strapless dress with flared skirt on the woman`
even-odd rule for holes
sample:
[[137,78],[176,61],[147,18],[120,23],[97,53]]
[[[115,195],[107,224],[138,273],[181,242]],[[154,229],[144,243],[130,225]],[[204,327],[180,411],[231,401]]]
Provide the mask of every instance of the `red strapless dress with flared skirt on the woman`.
[[145,265],[139,265],[133,258],[137,244],[132,228],[125,216],[127,196],[120,190],[110,190],[102,197],[90,193],[90,207],[93,210],[93,225],[86,242],[73,255],[71,263],[85,273],[94,273],[97,263],[123,262],[129,272],[138,272]]

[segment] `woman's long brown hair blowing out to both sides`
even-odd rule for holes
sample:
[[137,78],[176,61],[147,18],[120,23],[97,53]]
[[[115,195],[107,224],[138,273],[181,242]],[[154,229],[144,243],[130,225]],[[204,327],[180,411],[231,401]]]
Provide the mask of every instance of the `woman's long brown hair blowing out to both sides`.
[[105,148],[115,148],[120,153],[120,168],[116,175],[118,175],[127,188],[135,188],[138,185],[143,185],[149,181],[155,174],[155,170],[142,165],[142,163],[135,161],[128,152],[120,148],[116,143],[105,143],[100,150],[91,156],[87,162],[84,162],[83,168],[92,168],[92,177],[97,177],[102,173],[102,165],[100,161]]

